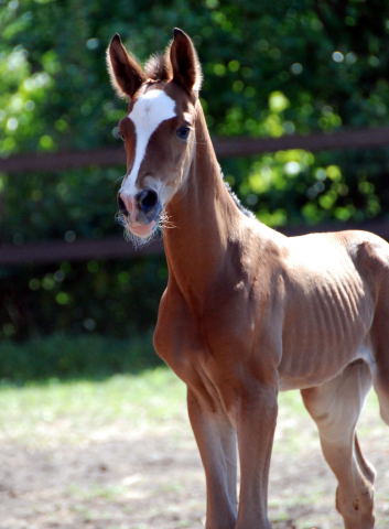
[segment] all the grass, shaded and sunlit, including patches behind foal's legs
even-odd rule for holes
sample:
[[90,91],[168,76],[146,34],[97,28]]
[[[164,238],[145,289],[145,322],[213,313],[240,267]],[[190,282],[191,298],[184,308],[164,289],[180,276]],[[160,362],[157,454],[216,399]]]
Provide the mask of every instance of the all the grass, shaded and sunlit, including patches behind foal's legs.
[[[172,424],[186,414],[185,388],[159,361],[150,333],[128,339],[53,335],[1,344],[0,436],[79,442],[87,432],[104,435],[118,423],[133,431]],[[279,401],[277,435],[288,439],[280,451],[292,454],[317,442],[299,392],[281,393]],[[369,398],[372,409],[375,397]],[[370,428],[363,422],[361,433]]]

